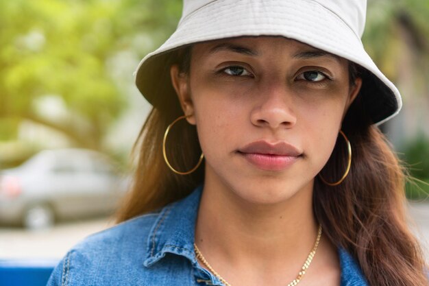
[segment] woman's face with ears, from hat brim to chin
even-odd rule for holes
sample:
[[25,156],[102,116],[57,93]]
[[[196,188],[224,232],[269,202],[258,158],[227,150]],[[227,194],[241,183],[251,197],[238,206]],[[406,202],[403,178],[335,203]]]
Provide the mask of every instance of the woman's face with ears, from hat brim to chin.
[[197,126],[206,184],[262,204],[312,189],[360,88],[347,60],[269,36],[199,43],[189,73],[171,75]]

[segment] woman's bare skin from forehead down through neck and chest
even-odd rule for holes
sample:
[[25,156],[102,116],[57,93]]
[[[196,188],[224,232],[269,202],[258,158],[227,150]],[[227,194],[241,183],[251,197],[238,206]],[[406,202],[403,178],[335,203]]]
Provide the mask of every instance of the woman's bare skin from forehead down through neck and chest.
[[[350,85],[343,58],[268,36],[199,43],[190,72],[173,66],[171,78],[205,155],[201,252],[232,285],[287,285],[314,244],[314,178],[360,79]],[[247,148],[254,142],[287,154],[261,157]],[[300,285],[339,285],[326,239]]]

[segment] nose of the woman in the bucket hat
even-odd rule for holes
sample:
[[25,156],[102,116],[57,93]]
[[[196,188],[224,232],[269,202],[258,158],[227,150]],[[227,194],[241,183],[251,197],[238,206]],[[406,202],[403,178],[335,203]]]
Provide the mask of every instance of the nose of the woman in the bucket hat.
[[254,106],[250,115],[254,126],[271,129],[291,128],[295,125],[293,98],[288,93],[286,86],[271,85],[260,91],[260,100]]

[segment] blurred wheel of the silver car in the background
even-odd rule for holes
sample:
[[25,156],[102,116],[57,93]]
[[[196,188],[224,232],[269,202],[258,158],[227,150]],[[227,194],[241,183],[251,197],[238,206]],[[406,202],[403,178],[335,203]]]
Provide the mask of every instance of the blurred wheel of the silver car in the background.
[[47,204],[34,204],[24,213],[23,225],[29,230],[49,228],[55,222],[52,208]]

